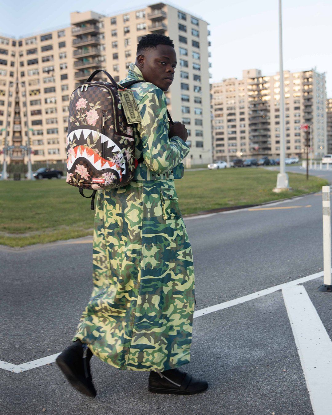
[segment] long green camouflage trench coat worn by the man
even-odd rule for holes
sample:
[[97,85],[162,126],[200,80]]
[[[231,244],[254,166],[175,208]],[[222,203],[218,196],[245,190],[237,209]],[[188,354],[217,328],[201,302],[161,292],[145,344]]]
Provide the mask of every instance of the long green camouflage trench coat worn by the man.
[[[144,78],[131,63],[120,84],[134,79]],[[190,361],[193,254],[174,186],[190,148],[168,138],[164,92],[148,82],[131,89],[144,162],[126,186],[97,192],[93,292],[73,341],[119,369],[164,371]]]

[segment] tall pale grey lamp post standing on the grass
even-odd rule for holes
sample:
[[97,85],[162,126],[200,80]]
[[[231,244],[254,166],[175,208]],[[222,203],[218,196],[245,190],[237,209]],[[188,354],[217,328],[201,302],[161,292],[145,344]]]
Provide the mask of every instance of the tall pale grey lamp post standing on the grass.
[[288,184],[288,174],[285,171],[285,87],[283,82],[283,38],[281,15],[281,0],[279,0],[280,172],[277,177],[277,186],[273,189],[273,192],[276,193],[291,190]]

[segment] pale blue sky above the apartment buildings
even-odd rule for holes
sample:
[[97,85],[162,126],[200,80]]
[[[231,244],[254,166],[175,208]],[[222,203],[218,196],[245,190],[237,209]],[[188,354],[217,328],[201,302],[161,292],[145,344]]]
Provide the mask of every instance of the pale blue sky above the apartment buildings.
[[[94,10],[115,15],[156,2],[127,0],[0,0],[0,32],[23,37],[66,27],[70,12]],[[279,70],[278,0],[179,0],[168,2],[209,23],[211,81],[242,78],[242,70],[261,69],[263,75]],[[53,10],[53,8],[55,10]],[[332,98],[332,0],[283,0],[283,69],[291,72],[316,68],[326,73],[327,98]]]

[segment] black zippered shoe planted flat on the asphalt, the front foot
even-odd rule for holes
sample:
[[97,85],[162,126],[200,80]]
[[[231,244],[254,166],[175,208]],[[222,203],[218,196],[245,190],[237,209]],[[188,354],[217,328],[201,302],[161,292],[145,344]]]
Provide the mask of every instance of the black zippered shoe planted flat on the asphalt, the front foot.
[[163,372],[150,371],[149,391],[153,393],[174,393],[176,395],[192,395],[207,389],[208,383],[194,378],[179,369],[168,369]]

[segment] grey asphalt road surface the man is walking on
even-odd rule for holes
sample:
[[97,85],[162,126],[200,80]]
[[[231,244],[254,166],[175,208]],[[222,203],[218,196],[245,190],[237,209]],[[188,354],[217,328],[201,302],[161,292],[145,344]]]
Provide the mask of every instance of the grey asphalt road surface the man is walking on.
[[[322,271],[321,194],[264,207],[274,209],[185,220],[197,310]],[[68,346],[92,290],[90,241],[0,249],[0,360],[18,365]],[[303,286],[332,338],[332,294],[317,291],[321,283]],[[95,356],[91,369],[95,399],[72,389],[54,363],[19,374],[0,369],[0,414],[314,413],[280,290],[194,319],[191,362],[182,369],[209,382],[204,393],[151,394],[146,373]]]

